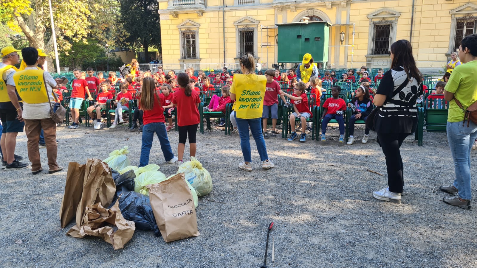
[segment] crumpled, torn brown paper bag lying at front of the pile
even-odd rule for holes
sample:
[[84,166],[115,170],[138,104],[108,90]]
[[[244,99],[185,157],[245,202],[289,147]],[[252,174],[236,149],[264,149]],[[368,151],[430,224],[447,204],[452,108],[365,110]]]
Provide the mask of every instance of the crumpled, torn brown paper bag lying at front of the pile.
[[125,220],[121,214],[118,199],[110,209],[104,208],[101,202],[86,206],[84,224],[79,232],[82,237],[103,237],[116,250],[131,240],[134,230],[134,222]]

